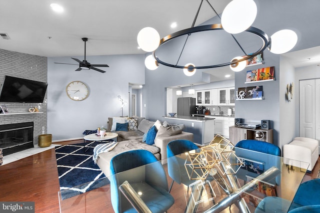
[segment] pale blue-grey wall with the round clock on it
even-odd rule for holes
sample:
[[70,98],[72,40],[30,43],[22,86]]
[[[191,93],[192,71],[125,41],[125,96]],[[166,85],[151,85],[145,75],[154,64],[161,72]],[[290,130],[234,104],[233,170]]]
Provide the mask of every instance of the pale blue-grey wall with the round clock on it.
[[[75,56],[82,60],[83,56]],[[120,95],[128,101],[128,83],[144,84],[144,55],[87,56],[92,64],[108,64],[101,68],[105,73],[94,70],[74,71],[76,65],[70,57],[48,58],[48,133],[53,140],[83,137],[84,130],[95,130],[106,126],[108,117],[121,116]],[[71,81],[83,81],[90,94],[83,101],[73,101],[66,96],[65,87]],[[128,105],[123,108],[128,115]]]

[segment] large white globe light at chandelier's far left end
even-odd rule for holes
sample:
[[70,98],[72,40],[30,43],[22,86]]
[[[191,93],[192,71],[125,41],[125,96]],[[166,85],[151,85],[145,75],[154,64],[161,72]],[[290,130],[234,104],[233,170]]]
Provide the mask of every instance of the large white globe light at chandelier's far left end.
[[137,35],[137,42],[142,50],[152,52],[159,46],[160,35],[154,28],[144,27]]

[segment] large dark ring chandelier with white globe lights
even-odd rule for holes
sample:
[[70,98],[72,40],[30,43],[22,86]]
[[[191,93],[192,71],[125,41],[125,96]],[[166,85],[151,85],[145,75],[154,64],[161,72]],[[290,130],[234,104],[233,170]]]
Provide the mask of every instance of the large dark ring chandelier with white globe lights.
[[[207,68],[215,68],[221,66],[230,66],[231,70],[233,71],[241,71],[245,68],[247,64],[247,60],[253,58],[254,56],[262,53],[266,48],[274,54],[282,54],[289,50],[291,50],[296,42],[297,42],[297,35],[294,31],[290,29],[283,29],[275,32],[270,36],[267,36],[265,32],[262,30],[251,26],[253,21],[255,20],[257,14],[257,7],[253,0],[232,0],[230,1],[226,7],[224,8],[221,17],[215,11],[215,9],[211,6],[208,0],[205,0],[217,17],[220,18],[221,23],[216,24],[208,24],[208,25],[200,25],[194,26],[195,21],[197,19],[199,10],[201,8],[203,0],[201,0],[200,5],[197,9],[195,17],[193,19],[192,25],[190,28],[183,29],[172,34],[169,34],[162,39],[160,39],[159,33],[152,27],[144,27],[141,29],[137,35],[137,42],[139,47],[146,51],[152,52],[151,55],[148,55],[145,58],[145,66],[150,69],[156,69],[159,64],[180,68],[183,69],[183,73],[187,76],[191,76],[195,73],[196,69],[207,69]],[[241,21],[237,21],[241,20]],[[207,64],[207,65],[194,65],[192,63],[186,63],[185,65],[178,65],[180,56],[184,50],[184,47],[187,43],[187,40],[191,34],[203,31],[218,31],[224,30],[230,34],[230,36],[234,39],[237,46],[243,52],[242,56],[237,56],[232,58],[231,60],[228,59],[227,61],[216,63],[216,64]],[[261,40],[261,45],[252,53],[246,53],[237,39],[233,36],[233,34],[237,34],[240,32],[248,32],[258,36]],[[181,49],[181,52],[178,56],[176,63],[167,62],[165,59],[161,59],[158,55],[156,50],[163,46],[168,41],[177,39],[181,36],[186,36],[184,40],[184,45]]]

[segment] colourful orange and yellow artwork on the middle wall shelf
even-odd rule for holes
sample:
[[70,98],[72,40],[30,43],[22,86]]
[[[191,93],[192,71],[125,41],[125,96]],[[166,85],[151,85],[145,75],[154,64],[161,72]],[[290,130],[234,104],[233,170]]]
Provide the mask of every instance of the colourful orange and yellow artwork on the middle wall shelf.
[[274,66],[246,71],[246,83],[263,80],[274,80]]

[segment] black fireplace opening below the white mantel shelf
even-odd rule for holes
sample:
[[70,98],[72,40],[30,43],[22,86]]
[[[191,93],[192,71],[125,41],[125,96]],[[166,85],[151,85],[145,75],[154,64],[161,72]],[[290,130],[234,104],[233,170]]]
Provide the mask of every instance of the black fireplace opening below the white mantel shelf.
[[33,122],[0,125],[3,156],[33,147]]

